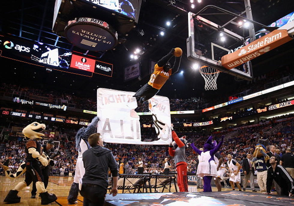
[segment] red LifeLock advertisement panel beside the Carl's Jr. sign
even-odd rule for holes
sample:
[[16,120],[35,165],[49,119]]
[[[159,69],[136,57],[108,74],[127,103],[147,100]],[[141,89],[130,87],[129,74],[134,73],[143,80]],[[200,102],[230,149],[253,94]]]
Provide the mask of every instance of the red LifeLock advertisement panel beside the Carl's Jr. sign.
[[73,54],[71,57],[70,67],[94,72],[95,60]]

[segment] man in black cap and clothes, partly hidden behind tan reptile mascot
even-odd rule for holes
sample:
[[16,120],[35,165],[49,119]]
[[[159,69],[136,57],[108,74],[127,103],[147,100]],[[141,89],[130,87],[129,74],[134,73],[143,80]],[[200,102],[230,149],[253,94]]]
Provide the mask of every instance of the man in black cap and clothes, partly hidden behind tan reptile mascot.
[[[49,154],[51,152],[54,152],[53,146],[54,146],[54,142],[53,142],[52,139],[50,139],[47,143],[42,145],[42,150],[43,150],[43,153],[44,153],[45,156],[49,156]],[[51,173],[52,166],[50,164],[48,164],[46,167],[41,165],[41,169],[42,169],[42,174],[43,174],[43,177],[44,177],[44,186],[45,186],[45,189],[46,189],[47,186],[48,186],[49,175]],[[36,183],[35,182],[33,182],[32,187],[33,188],[32,188],[32,192],[31,192],[32,193],[31,198],[36,198],[37,188],[36,188]]]

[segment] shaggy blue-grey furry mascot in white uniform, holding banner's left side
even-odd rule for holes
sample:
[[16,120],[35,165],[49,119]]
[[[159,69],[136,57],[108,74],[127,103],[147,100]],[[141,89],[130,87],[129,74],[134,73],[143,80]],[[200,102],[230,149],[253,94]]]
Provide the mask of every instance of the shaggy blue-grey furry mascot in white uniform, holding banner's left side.
[[76,204],[77,197],[79,194],[79,179],[83,178],[85,174],[85,168],[83,164],[83,153],[90,148],[90,144],[88,143],[88,137],[91,134],[97,132],[97,124],[99,121],[99,117],[94,117],[92,122],[88,125],[88,127],[82,127],[76,133],[76,149],[79,152],[78,159],[76,160],[76,170],[73,179],[73,183],[70,187],[70,191],[68,193],[67,201],[68,204]]

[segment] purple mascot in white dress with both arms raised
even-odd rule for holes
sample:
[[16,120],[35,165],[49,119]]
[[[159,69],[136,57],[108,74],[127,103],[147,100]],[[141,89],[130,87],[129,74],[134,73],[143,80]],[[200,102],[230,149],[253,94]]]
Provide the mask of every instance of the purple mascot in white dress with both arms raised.
[[191,144],[192,149],[199,154],[197,175],[198,177],[203,177],[203,192],[212,192],[211,179],[217,173],[214,154],[217,153],[223,144],[223,138],[224,136],[221,136],[220,142],[216,144],[216,141],[212,141],[212,136],[210,136],[204,144],[204,151],[197,149],[194,143]]

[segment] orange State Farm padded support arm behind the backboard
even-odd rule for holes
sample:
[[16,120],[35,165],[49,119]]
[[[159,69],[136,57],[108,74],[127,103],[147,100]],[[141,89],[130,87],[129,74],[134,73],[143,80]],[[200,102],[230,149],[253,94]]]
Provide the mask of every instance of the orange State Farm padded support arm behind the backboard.
[[[291,23],[294,24],[294,22],[290,22],[288,24]],[[250,44],[241,47],[237,51],[222,56],[221,65],[227,69],[235,68],[270,50],[273,50],[282,44],[285,44],[290,40],[292,40],[292,38],[289,37],[286,29],[276,29],[273,32],[251,42]]]

